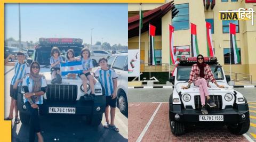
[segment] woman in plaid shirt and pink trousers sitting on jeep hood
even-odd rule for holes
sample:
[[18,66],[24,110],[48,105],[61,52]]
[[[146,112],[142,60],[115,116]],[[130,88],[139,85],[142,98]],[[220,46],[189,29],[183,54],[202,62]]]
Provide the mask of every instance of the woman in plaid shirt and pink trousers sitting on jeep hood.
[[197,56],[197,63],[193,64],[192,66],[189,80],[188,80],[188,86],[182,87],[182,88],[188,89],[191,83],[193,82],[195,86],[199,87],[203,114],[208,114],[205,107],[205,97],[207,98],[207,105],[209,105],[210,107],[216,106],[216,104],[212,101],[212,99],[209,96],[209,91],[208,91],[208,87],[210,87],[209,80],[215,83],[217,87],[225,88],[222,85],[218,85],[217,81],[214,79],[210,66],[204,63],[203,55],[199,54]]

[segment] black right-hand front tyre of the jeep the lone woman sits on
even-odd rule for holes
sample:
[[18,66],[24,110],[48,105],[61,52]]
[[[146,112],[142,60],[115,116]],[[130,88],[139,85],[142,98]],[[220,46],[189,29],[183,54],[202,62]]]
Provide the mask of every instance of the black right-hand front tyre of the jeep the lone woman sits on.
[[250,128],[250,119],[247,119],[244,123],[231,124],[228,129],[231,133],[235,135],[242,135],[246,133]]

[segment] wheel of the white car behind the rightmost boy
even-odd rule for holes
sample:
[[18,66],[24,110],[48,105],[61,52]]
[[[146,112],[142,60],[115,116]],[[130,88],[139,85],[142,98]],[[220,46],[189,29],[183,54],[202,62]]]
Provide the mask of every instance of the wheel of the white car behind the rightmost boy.
[[118,106],[118,108],[119,108],[121,113],[123,113],[125,115],[128,113],[127,97],[126,97],[126,95],[123,92],[121,92],[118,95],[117,106]]

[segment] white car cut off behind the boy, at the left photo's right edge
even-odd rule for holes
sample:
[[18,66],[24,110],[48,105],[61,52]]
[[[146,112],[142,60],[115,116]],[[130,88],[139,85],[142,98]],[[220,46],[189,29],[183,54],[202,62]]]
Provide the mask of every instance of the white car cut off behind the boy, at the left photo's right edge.
[[128,114],[128,55],[115,54],[108,59],[108,66],[117,73],[117,107],[119,110]]

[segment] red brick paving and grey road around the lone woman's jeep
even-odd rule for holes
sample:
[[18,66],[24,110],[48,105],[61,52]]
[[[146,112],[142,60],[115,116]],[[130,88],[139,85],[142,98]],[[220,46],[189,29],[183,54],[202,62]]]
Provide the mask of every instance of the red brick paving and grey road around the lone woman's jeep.
[[207,124],[191,126],[185,135],[172,135],[169,96],[173,89],[129,89],[129,141],[256,141],[256,88],[235,88],[249,101],[251,126],[236,136],[226,127]]

